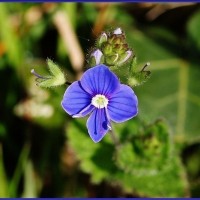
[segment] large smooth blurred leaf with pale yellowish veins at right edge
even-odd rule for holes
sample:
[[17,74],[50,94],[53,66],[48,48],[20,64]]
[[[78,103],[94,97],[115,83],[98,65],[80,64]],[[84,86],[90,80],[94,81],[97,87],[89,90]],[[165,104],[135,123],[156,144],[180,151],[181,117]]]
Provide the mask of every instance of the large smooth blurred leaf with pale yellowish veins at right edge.
[[174,46],[166,48],[141,32],[127,33],[130,43],[135,45],[138,60],[148,59],[151,63],[151,79],[134,89],[139,99],[140,118],[149,122],[164,117],[180,144],[200,141],[198,64],[192,58],[177,58]]

